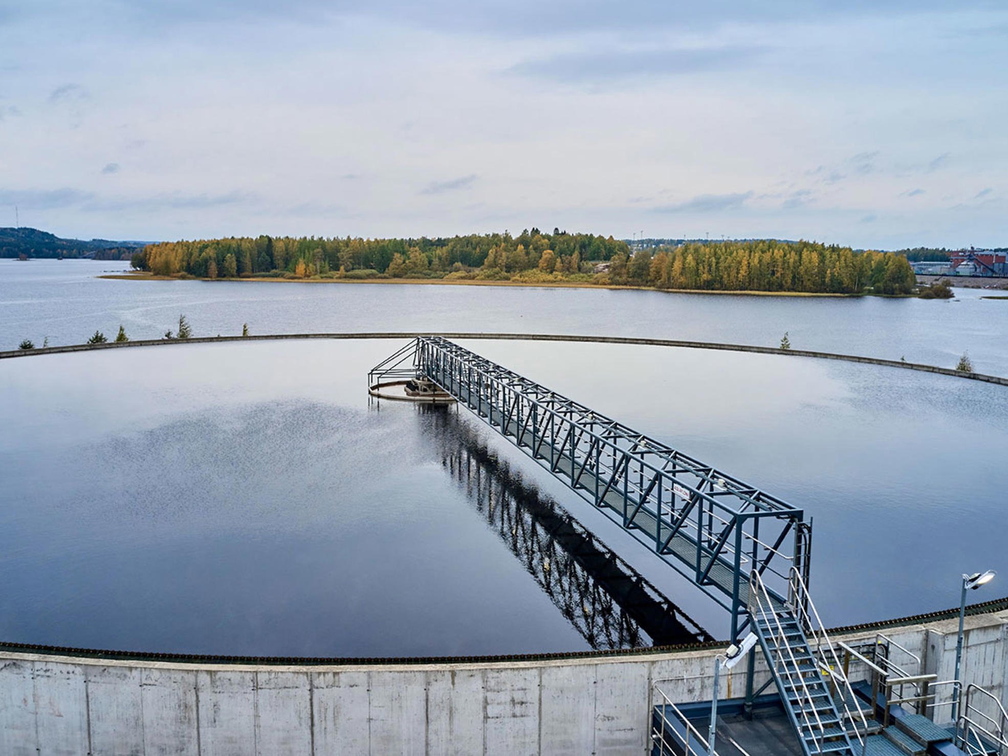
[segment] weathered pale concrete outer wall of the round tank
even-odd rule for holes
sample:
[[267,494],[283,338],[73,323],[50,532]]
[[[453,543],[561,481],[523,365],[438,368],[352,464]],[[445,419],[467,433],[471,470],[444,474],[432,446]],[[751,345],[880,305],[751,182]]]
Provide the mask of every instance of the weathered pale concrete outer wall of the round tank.
[[[886,635],[948,679],[956,631],[949,620]],[[1008,705],[1006,644],[1008,612],[968,618],[964,678]],[[3,652],[0,754],[645,754],[654,686],[709,700],[716,653],[256,666]],[[722,682],[742,696],[745,664]]]

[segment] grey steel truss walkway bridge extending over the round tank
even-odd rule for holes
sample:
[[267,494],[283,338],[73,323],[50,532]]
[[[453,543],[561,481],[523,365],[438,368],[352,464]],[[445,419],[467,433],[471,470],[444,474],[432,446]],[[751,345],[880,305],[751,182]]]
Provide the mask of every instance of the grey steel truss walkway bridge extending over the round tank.
[[369,385],[425,377],[750,624],[751,576],[787,603],[807,585],[811,526],[800,509],[440,337],[418,337],[376,366]]

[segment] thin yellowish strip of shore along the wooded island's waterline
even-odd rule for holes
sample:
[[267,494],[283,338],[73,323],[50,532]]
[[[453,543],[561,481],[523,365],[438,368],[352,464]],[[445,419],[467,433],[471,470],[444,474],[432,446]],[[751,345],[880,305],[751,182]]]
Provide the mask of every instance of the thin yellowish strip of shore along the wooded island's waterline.
[[583,283],[580,281],[490,281],[490,280],[445,280],[444,278],[201,278],[186,276],[175,278],[170,275],[154,275],[152,273],[106,273],[97,276],[114,280],[134,281],[258,281],[263,283],[405,283],[440,286],[517,286],[520,288],[595,288],[628,291],[659,291],[666,294],[737,294],[744,296],[825,296],[840,298],[857,298],[859,296],[886,296],[891,298],[913,297],[914,294],[836,294],[817,291],[750,291],[735,289],[663,289],[654,286],[628,286],[618,284]]

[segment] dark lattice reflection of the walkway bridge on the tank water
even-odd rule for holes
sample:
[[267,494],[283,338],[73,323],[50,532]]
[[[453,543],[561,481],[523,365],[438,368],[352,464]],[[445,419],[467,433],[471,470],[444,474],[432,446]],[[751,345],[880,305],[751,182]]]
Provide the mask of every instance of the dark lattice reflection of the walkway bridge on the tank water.
[[543,593],[594,649],[714,640],[563,507],[526,484],[454,414],[442,464]]

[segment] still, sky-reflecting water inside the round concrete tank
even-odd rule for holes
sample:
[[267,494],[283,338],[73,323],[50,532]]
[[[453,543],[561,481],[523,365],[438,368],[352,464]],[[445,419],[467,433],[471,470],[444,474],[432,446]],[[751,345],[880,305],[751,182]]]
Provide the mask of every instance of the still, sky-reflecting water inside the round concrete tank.
[[[727,634],[723,610],[465,410],[369,403],[367,369],[398,346],[0,362],[0,639],[311,656],[651,642],[550,535],[571,516],[683,629]],[[1008,578],[1004,387],[766,355],[466,346],[805,508],[828,624],[954,606],[963,572]],[[986,592],[971,598],[1008,593]]]

